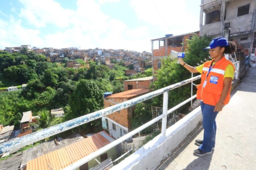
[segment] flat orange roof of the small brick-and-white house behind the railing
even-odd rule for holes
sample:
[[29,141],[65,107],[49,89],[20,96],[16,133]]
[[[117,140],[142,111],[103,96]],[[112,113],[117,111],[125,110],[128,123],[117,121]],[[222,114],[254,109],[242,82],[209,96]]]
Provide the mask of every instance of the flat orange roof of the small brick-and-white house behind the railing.
[[131,98],[131,97],[136,97],[138,95],[147,93],[148,91],[149,91],[149,89],[132,89],[132,90],[127,90],[127,91],[124,91],[121,93],[115,93],[106,98]]

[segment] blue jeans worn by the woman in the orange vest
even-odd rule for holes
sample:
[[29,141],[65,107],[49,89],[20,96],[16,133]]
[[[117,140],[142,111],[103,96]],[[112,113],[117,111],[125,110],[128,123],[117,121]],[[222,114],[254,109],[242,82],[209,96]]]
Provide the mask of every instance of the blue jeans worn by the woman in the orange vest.
[[218,112],[214,112],[215,106],[200,102],[201,110],[203,114],[203,144],[199,147],[204,152],[211,152],[211,149],[215,147],[216,136],[216,117]]

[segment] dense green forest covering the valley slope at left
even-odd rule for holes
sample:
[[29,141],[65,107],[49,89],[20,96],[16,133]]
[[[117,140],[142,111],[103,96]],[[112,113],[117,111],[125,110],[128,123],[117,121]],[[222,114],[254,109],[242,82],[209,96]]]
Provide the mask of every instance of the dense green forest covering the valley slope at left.
[[[148,69],[144,75],[128,77],[123,62],[116,62],[113,70],[95,62],[81,64],[79,69],[66,67],[63,63],[47,62],[44,55],[36,55],[26,48],[21,53],[0,52],[0,88],[27,84],[26,89],[0,93],[0,124],[19,128],[22,112],[32,110],[40,115],[40,129],[67,121],[103,108],[103,92],[123,91],[122,80],[152,75]],[[63,107],[64,118],[51,118],[50,109]],[[93,128],[91,128],[93,127]],[[99,120],[81,128],[89,131],[101,127]]]

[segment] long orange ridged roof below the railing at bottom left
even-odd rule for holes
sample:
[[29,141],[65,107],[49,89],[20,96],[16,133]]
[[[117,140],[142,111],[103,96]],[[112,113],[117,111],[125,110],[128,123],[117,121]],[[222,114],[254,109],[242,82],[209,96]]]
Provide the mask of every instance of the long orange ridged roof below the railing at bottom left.
[[[111,137],[108,133],[106,134]],[[51,170],[51,168],[61,170],[109,143],[110,141],[100,135],[99,132],[64,148],[30,160],[26,165],[26,170]]]

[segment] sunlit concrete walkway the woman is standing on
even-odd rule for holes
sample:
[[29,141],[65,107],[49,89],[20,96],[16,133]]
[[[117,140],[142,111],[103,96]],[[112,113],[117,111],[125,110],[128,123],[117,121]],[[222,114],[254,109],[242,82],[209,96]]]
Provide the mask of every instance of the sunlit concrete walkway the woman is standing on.
[[213,154],[193,154],[195,139],[203,138],[201,126],[158,170],[256,170],[256,68],[249,69],[216,122]]

